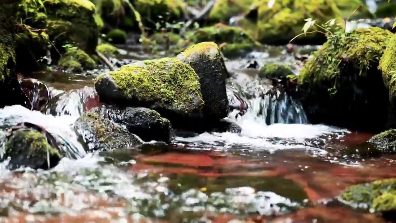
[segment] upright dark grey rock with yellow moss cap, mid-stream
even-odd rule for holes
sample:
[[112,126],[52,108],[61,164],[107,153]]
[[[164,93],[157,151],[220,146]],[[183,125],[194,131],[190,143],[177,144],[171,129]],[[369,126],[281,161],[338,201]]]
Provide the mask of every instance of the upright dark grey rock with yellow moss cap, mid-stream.
[[199,77],[200,91],[205,102],[204,119],[210,121],[227,117],[225,79],[228,77],[228,72],[217,44],[214,42],[195,44],[177,58],[189,64]]

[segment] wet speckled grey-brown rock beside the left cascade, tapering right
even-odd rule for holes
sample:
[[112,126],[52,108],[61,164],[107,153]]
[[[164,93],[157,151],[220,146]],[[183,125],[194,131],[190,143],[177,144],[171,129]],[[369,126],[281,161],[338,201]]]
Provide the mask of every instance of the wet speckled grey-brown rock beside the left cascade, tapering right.
[[139,138],[122,126],[100,117],[95,112],[83,113],[73,124],[73,127],[88,151],[108,151],[141,144]]

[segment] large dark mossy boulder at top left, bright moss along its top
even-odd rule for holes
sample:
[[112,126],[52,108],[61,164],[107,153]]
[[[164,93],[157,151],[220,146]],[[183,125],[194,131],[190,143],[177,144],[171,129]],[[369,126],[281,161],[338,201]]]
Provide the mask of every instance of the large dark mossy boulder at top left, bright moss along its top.
[[[22,0],[19,17],[36,29],[47,29],[57,50],[65,44],[74,44],[88,54],[97,46],[99,31],[95,5],[89,0]],[[44,6],[44,7],[43,7]],[[53,55],[56,50],[53,49]]]

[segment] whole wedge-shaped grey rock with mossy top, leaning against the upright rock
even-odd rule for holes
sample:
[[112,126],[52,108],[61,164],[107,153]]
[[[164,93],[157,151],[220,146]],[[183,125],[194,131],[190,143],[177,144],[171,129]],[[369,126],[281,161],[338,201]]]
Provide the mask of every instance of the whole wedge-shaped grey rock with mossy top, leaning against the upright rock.
[[95,88],[102,102],[151,108],[170,119],[200,115],[204,105],[198,75],[175,58],[122,66],[98,76]]

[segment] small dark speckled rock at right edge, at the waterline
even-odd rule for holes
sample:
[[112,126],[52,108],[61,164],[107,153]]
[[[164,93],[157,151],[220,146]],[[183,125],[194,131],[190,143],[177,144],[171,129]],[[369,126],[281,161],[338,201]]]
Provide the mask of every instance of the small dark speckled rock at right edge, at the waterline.
[[396,129],[389,129],[369,139],[382,152],[396,152]]

